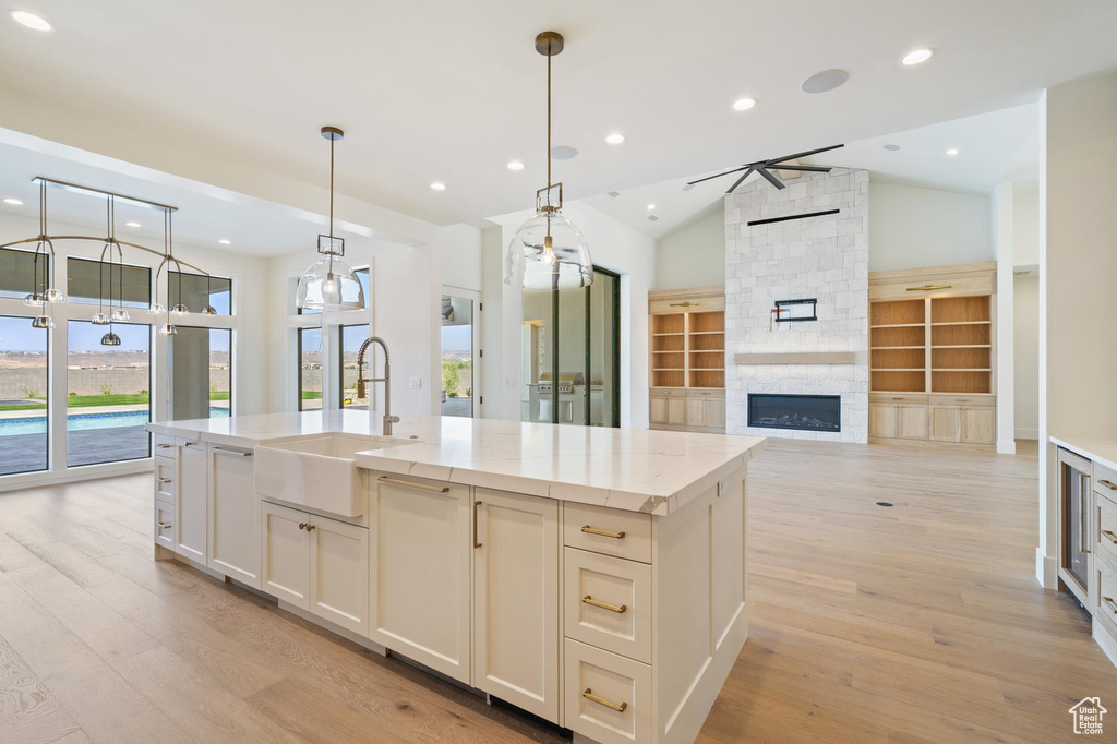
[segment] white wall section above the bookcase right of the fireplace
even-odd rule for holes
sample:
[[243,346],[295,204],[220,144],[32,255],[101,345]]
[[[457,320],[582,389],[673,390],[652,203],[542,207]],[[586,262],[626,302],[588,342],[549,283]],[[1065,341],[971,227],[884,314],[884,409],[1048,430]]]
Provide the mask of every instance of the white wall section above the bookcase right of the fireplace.
[[869,270],[996,259],[984,194],[870,181]]

